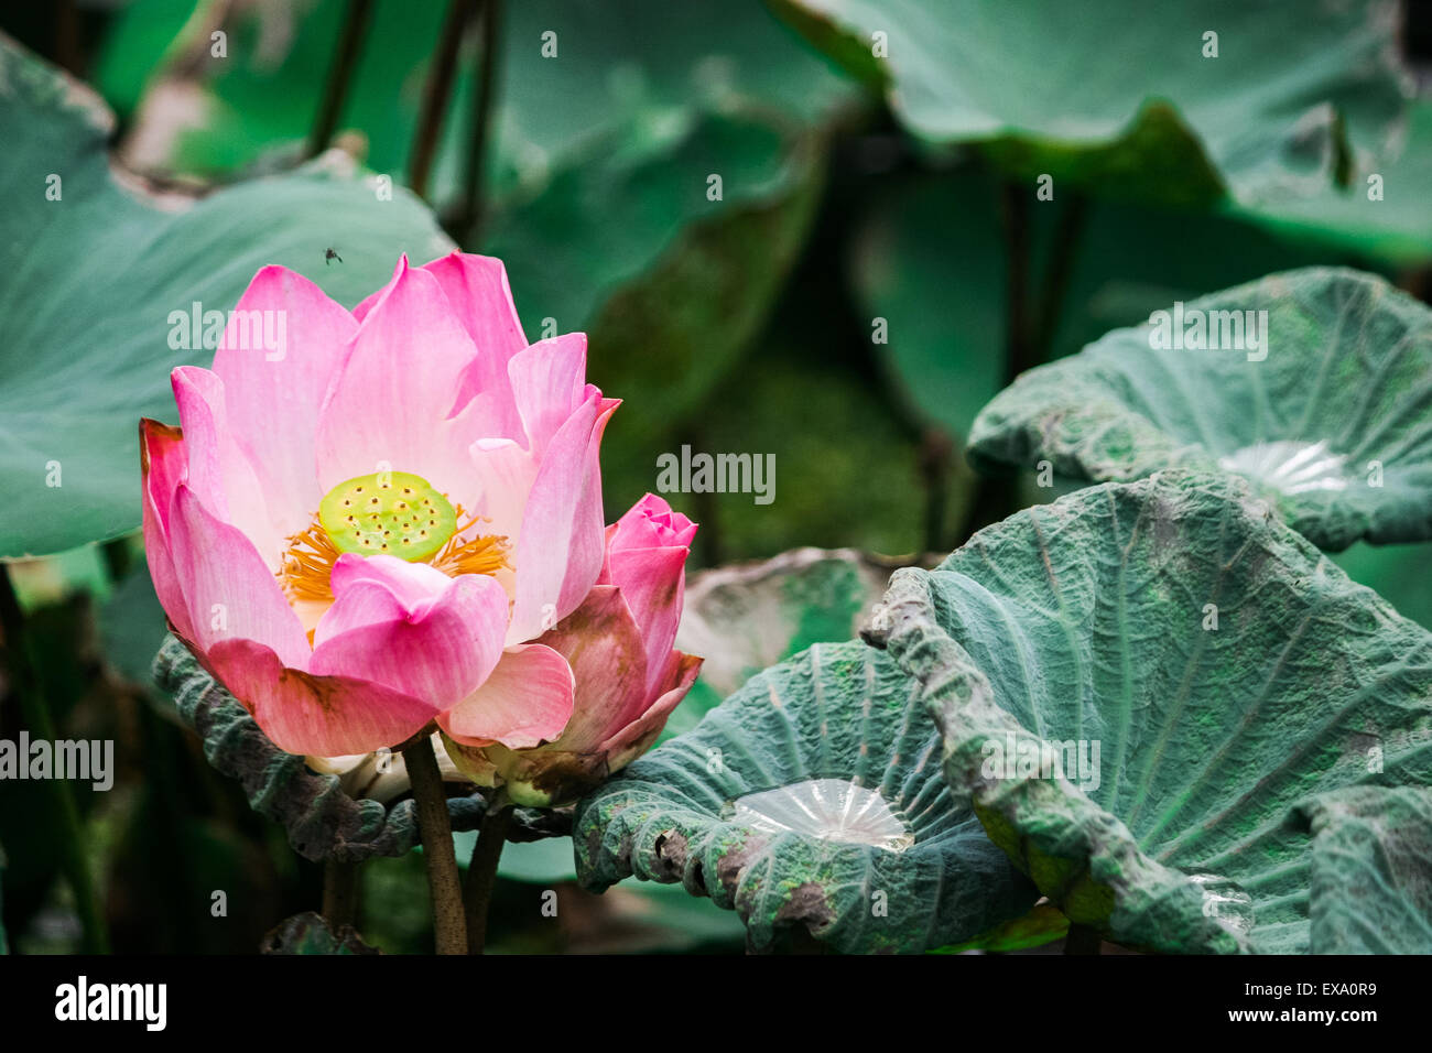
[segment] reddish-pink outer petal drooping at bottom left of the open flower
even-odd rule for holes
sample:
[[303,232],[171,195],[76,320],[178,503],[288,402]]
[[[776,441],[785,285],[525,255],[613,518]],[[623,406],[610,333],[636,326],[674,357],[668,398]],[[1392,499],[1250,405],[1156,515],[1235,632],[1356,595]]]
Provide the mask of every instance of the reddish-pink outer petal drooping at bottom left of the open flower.
[[339,756],[397,746],[435,715],[431,705],[378,683],[285,668],[253,640],[223,640],[208,658],[263,734],[289,754]]

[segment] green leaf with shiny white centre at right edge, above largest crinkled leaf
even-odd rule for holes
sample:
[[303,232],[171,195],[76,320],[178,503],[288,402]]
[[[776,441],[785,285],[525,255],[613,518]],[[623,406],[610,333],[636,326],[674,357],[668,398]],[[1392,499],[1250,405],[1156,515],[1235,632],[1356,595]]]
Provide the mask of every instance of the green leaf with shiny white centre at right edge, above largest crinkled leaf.
[[[1217,466],[1330,552],[1432,536],[1432,311],[1339,268],[1167,309],[1184,347],[1144,324],[1030,370],[975,420],[971,460],[1094,481]],[[1259,341],[1237,337],[1249,318]],[[1213,338],[1187,347],[1196,322]]]

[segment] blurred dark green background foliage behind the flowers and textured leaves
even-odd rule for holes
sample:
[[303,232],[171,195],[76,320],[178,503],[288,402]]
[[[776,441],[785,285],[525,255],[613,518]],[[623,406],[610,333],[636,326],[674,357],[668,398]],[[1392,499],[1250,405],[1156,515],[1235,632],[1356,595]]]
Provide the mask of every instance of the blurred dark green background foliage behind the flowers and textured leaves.
[[[587,331],[590,378],[624,400],[603,451],[609,519],[683,444],[775,454],[770,504],[677,499],[702,523],[699,569],[798,546],[912,559],[1053,500],[1028,479],[975,479],[961,443],[977,410],[1018,368],[1174,299],[1307,264],[1428,298],[1428,9],[1345,26],[1293,4],[1184,7],[1174,32],[1137,0],[1101,19],[1063,0],[62,0],[7,9],[0,29],[103,96],[116,165],[152,186],[209,195],[332,145],[415,191],[464,249],[501,256],[528,337]],[[1227,27],[1216,80],[1164,54],[1197,49],[1209,19]],[[886,24],[882,66],[871,34]],[[1045,172],[1053,201],[1034,193]],[[1368,199],[1369,173],[1385,199]],[[379,244],[339,232],[332,266],[385,271]],[[324,248],[291,265],[324,279]],[[155,348],[160,391],[169,354]],[[1432,626],[1429,546],[1336,560]],[[95,947],[99,928],[123,951],[249,953],[315,908],[319,868],[152,686],[165,625],[137,539],[14,562],[9,580],[24,639],[7,620],[0,736],[33,726],[29,692],[57,735],[113,738],[119,761],[107,794],[0,784],[11,948]],[[21,683],[21,646],[39,683]],[[733,686],[703,682],[693,701]],[[732,915],[679,887],[591,897],[570,878],[567,840],[510,845],[493,948],[742,947]],[[427,950],[415,854],[368,864],[364,883],[365,940]]]

